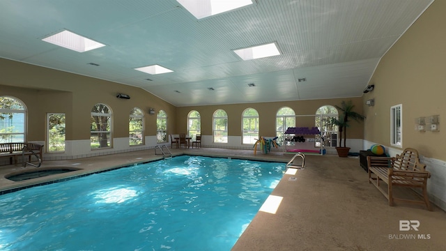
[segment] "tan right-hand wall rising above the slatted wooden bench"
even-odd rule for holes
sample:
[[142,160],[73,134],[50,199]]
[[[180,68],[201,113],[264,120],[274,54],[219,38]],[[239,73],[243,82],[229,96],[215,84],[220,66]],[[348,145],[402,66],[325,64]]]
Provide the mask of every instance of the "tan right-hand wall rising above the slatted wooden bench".
[[[446,160],[446,1],[435,1],[383,56],[370,84],[374,107],[364,107],[364,139],[390,146],[390,107],[403,105],[403,149]],[[440,132],[415,131],[415,118],[440,115]]]

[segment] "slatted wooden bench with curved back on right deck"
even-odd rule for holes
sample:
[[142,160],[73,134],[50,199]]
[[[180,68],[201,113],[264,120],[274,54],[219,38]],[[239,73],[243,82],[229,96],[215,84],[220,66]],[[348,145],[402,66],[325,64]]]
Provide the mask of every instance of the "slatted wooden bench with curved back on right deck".
[[[426,165],[420,163],[417,150],[404,149],[401,155],[392,158],[367,156],[367,166],[369,167],[369,183],[373,183],[383,193],[389,200],[389,206],[393,206],[393,202],[398,200],[425,204],[429,211],[432,210],[426,188],[427,179],[431,177],[431,174],[426,171]],[[387,191],[380,187],[380,181],[387,183]],[[420,188],[421,194],[415,192],[420,199],[397,198],[392,191],[394,186]]]

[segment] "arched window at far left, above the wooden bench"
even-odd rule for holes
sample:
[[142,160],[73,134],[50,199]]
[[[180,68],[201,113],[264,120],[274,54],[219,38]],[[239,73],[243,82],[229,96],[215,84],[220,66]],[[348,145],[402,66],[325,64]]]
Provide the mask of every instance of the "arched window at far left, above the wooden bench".
[[0,143],[25,142],[26,107],[22,100],[0,96]]

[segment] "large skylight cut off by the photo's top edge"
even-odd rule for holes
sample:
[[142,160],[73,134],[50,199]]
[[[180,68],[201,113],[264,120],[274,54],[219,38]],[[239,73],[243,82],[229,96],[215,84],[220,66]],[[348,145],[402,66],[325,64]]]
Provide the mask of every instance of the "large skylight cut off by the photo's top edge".
[[197,19],[252,4],[252,0],[176,0]]

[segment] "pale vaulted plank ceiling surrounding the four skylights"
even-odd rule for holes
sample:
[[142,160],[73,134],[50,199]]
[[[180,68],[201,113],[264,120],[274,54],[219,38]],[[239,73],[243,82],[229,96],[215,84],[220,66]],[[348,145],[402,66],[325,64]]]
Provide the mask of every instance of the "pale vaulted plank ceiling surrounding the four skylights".
[[[256,0],[197,20],[175,0],[0,1],[0,57],[138,86],[176,106],[357,97],[432,2]],[[79,53],[42,40],[64,29],[106,46]],[[233,52],[266,43],[281,54]],[[134,70],[153,64],[174,72]]]

